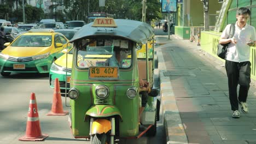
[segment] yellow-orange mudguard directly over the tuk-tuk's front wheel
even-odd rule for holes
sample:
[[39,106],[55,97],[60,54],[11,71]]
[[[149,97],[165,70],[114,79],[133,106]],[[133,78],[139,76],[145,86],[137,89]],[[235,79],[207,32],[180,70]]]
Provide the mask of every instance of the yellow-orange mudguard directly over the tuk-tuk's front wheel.
[[102,134],[107,133],[111,129],[111,122],[107,119],[96,119],[92,122],[91,133]]

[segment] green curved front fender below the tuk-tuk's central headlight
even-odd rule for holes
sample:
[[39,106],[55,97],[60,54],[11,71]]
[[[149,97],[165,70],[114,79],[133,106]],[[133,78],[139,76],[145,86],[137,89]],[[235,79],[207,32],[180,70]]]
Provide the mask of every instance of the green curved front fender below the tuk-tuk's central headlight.
[[120,117],[121,122],[123,122],[123,118],[121,116],[121,112],[119,109],[113,105],[94,105],[89,108],[89,110],[85,113],[84,120],[88,119],[88,116],[91,117],[110,117],[118,115]]

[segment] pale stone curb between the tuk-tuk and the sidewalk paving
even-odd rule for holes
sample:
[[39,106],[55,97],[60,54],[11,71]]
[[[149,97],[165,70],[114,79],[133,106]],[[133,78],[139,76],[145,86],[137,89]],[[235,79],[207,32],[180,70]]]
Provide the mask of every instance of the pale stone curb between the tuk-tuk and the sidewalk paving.
[[156,54],[158,56],[158,68],[161,68],[161,70],[159,70],[160,95],[162,113],[164,116],[164,127],[166,131],[166,143],[185,144],[188,143],[188,138],[185,134],[181,116],[179,115],[171,81],[164,76],[166,65],[162,56],[162,51],[160,51],[161,46],[159,46],[158,49],[159,51]]

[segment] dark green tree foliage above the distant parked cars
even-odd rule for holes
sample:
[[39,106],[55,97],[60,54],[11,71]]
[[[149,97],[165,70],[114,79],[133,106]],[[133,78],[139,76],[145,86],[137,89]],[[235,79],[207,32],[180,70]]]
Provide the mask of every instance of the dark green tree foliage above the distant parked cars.
[[[22,21],[22,0],[3,0],[0,4],[0,19],[16,17],[15,22]],[[131,19],[141,21],[142,1],[137,0],[105,0],[105,7],[99,7],[99,0],[51,0],[48,13],[43,9],[32,7],[25,2],[26,22],[39,21],[40,19],[56,19],[57,21],[84,20],[87,21],[88,13],[102,12],[113,14],[115,19]],[[14,8],[14,5],[16,7]],[[63,6],[63,10],[57,10]],[[161,19],[161,4],[159,0],[147,0],[146,21]]]

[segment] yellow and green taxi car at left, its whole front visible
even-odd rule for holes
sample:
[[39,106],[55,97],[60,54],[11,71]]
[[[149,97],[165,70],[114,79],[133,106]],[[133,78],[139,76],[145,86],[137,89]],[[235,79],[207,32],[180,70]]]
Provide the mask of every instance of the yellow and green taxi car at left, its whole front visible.
[[51,64],[70,47],[68,39],[53,29],[31,29],[0,52],[0,73],[49,73]]

